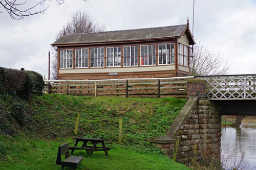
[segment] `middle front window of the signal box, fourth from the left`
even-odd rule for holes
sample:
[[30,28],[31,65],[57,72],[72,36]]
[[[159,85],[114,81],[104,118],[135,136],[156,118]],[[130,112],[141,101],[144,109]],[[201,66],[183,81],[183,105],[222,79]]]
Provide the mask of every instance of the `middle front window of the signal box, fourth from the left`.
[[106,48],[106,66],[107,67],[121,66],[121,47]]

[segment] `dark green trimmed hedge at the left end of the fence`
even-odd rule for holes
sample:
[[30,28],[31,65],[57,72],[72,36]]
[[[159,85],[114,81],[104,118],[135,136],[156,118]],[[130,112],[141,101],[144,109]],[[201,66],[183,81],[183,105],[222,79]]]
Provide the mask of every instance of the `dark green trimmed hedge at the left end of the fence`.
[[32,93],[42,94],[44,80],[35,71],[21,71],[0,67],[0,94],[15,93],[28,99]]

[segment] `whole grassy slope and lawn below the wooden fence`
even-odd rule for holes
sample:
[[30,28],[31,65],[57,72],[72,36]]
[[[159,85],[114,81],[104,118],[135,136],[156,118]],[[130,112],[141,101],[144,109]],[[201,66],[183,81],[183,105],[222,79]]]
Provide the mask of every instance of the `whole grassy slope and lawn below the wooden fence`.
[[[28,101],[2,95],[0,99],[0,163],[3,168],[60,168],[55,165],[58,145],[66,141],[74,144],[71,137],[74,137],[79,113],[77,136],[106,138],[106,144],[115,147],[109,157],[102,152],[91,157],[75,152],[85,157],[81,169],[185,169],[162,156],[159,149],[146,141],[166,133],[185,100],[69,95],[33,96]],[[117,144],[119,117],[123,118],[120,145]]]

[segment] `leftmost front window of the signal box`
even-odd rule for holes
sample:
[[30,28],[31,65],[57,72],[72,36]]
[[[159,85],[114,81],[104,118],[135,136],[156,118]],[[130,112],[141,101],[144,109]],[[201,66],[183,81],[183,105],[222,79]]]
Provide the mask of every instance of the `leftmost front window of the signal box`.
[[73,68],[73,50],[60,50],[60,68]]

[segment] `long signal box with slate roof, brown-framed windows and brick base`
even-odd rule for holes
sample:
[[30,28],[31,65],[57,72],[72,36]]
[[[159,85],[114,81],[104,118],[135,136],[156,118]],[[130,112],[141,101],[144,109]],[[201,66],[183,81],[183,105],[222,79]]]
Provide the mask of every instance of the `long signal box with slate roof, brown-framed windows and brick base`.
[[59,80],[167,78],[189,75],[186,25],[63,35],[58,51]]

